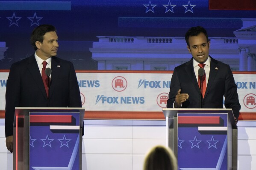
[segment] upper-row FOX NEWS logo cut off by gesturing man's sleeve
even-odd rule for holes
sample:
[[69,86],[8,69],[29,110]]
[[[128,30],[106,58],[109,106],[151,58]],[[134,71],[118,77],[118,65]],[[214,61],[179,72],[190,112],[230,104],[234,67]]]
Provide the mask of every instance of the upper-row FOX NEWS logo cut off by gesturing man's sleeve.
[[171,81],[147,81],[140,79],[138,81],[138,88],[170,88]]

